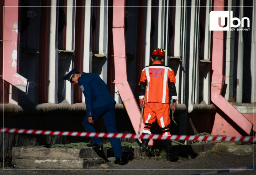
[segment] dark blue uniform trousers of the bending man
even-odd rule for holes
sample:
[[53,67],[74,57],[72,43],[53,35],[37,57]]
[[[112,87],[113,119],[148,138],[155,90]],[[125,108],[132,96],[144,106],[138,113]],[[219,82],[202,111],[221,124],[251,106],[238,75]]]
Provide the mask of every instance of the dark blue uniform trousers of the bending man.
[[[116,108],[115,104],[108,104],[105,106],[101,106],[99,108],[93,109],[93,121],[95,122],[99,117],[102,116],[103,121],[105,123],[106,129],[108,133],[117,133],[116,128]],[[84,116],[82,124],[87,132],[96,132],[94,128],[94,124],[90,124],[87,120],[87,117]],[[101,139],[99,137],[90,137],[90,139],[95,144],[102,144]],[[114,156],[116,158],[122,157],[122,146],[121,140],[119,138],[109,138],[111,146],[114,151]]]

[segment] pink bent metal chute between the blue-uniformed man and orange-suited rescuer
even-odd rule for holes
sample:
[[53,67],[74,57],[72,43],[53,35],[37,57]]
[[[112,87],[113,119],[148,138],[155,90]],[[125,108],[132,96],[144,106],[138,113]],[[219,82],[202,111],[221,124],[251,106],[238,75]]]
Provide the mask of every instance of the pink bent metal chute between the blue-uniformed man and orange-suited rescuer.
[[[115,80],[118,92],[127,110],[135,133],[138,133],[140,123],[140,109],[127,81],[124,11],[125,0],[113,1],[113,50]],[[140,131],[142,132],[143,126]]]

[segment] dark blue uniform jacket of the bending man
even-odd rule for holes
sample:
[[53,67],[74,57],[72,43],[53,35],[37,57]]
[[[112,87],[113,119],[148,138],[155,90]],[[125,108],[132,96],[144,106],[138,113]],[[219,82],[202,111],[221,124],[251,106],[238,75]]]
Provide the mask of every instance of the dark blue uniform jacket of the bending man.
[[108,86],[97,74],[83,72],[78,84],[85,97],[86,117],[92,117],[95,108],[116,103],[110,95]]

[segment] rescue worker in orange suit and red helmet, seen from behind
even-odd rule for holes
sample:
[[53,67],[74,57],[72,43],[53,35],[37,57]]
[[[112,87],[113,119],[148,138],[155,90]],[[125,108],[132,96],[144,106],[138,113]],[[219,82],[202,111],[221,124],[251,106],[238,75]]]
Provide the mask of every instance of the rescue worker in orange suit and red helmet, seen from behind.
[[[170,124],[170,103],[174,105],[171,109],[175,111],[177,102],[176,78],[174,71],[170,67],[162,65],[164,59],[163,49],[153,51],[151,60],[152,65],[144,67],[139,82],[140,108],[144,108],[143,123],[145,124],[142,134],[151,134],[151,126],[157,121],[162,128],[163,135],[171,135]],[[147,88],[147,89],[146,89]],[[143,98],[145,103],[143,104]],[[148,148],[149,139],[142,139],[142,152]],[[167,151],[167,161],[178,158],[178,153],[172,151],[172,141],[164,140]]]

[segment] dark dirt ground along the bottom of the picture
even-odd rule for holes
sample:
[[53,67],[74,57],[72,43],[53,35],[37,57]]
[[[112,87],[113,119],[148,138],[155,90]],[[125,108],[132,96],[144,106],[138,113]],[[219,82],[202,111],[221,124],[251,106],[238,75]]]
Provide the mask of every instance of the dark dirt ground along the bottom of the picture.
[[[253,167],[256,160],[253,153],[237,155],[228,152],[202,152],[193,159],[179,158],[177,162],[167,162],[162,158],[136,158],[121,166],[109,162],[87,170],[19,170],[19,168],[5,167],[0,175],[190,175],[218,170],[237,169],[240,167]],[[234,170],[231,175],[255,175],[256,170]],[[216,173],[214,173],[216,174]],[[229,173],[222,173],[229,174]]]

